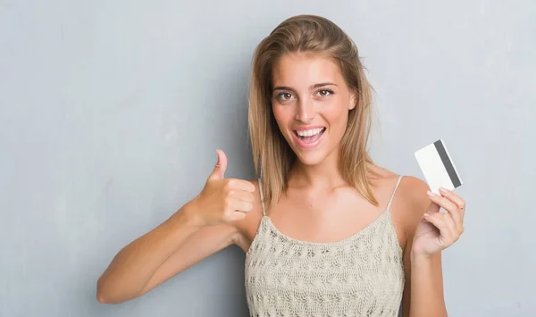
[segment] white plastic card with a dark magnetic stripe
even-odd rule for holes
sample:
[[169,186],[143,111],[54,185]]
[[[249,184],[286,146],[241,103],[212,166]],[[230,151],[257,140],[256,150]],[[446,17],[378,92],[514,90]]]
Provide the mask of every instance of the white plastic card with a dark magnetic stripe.
[[440,187],[452,190],[462,186],[462,179],[442,139],[416,151],[415,158],[431,192],[440,194]]

